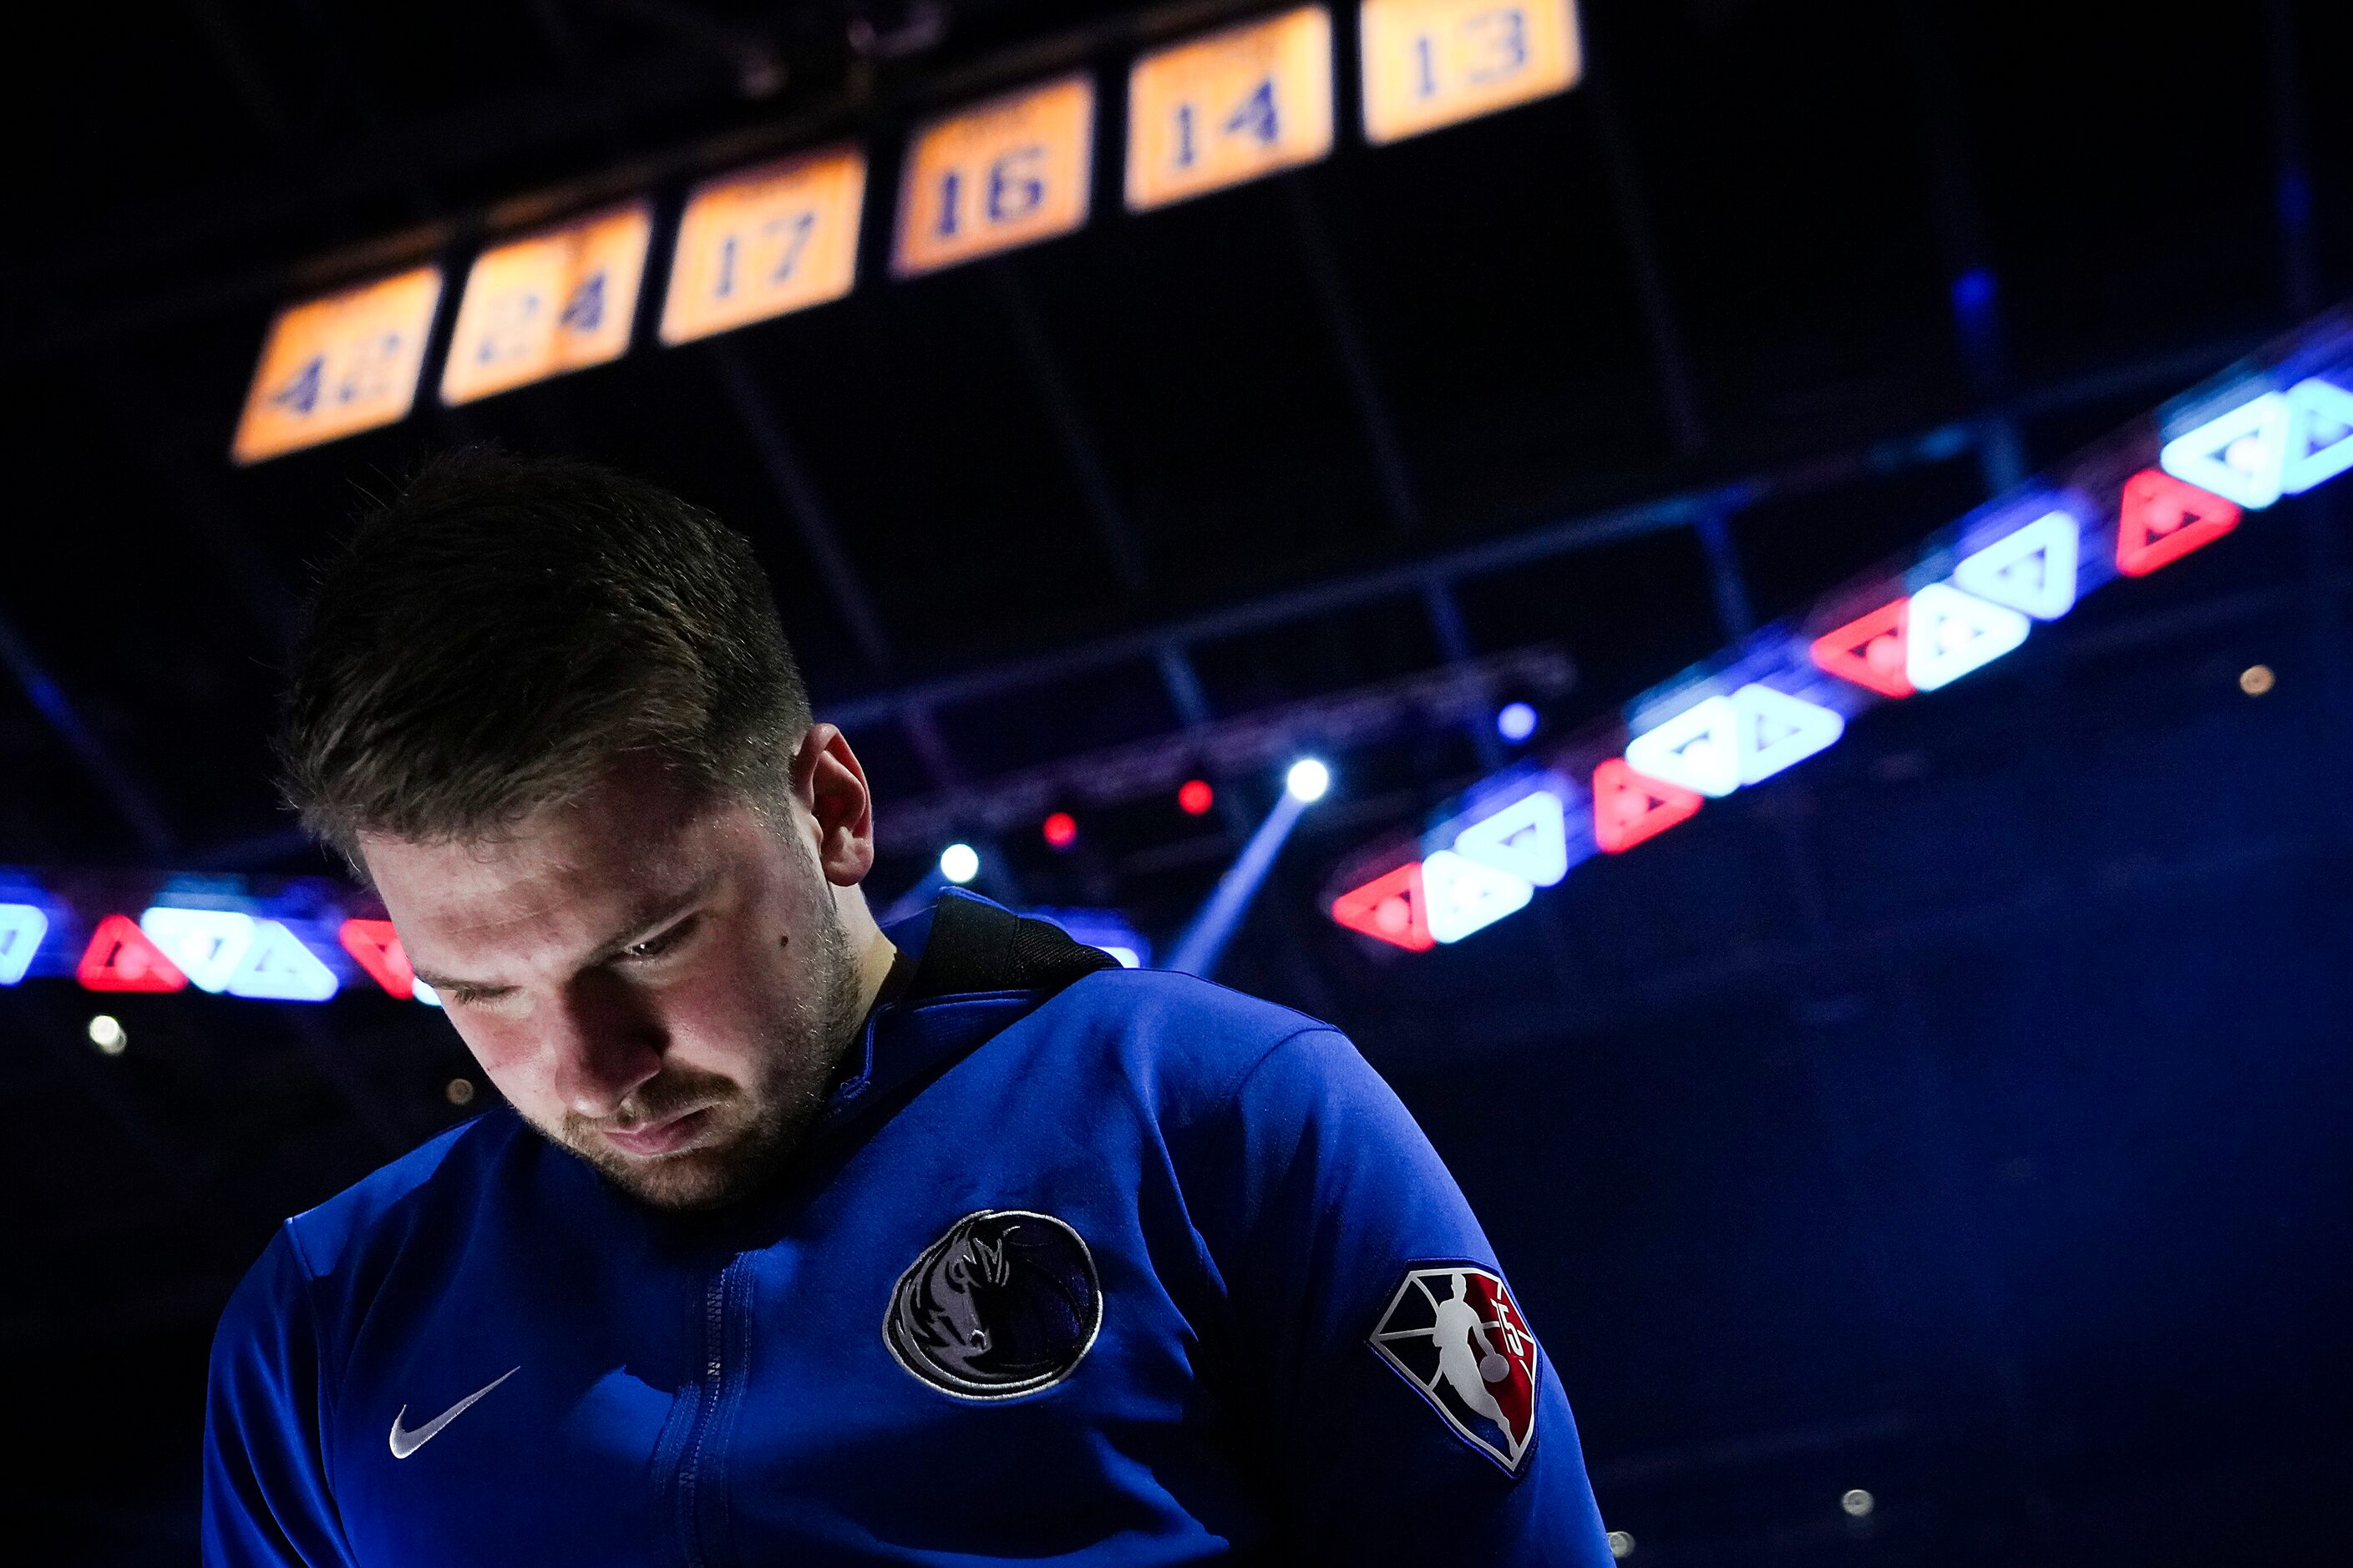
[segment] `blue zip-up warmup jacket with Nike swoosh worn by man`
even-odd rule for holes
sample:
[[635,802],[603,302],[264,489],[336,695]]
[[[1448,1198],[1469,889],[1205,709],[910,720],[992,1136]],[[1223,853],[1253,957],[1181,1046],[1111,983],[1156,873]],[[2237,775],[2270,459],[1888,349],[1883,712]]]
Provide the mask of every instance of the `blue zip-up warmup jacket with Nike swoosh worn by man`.
[[214,1340],[205,1561],[1609,1563],[1341,1034],[960,893],[892,936],[758,1199],[649,1211],[499,1110],[287,1220]]

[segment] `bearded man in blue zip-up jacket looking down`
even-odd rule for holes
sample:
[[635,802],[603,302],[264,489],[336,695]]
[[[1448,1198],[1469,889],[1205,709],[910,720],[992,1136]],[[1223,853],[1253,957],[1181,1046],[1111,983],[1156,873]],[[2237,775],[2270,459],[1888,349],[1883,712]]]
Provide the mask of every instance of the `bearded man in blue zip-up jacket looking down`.
[[207,1563],[1609,1561],[1395,1095],[979,898],[878,926],[866,776],[708,515],[428,465],[282,752],[508,1107],[245,1279]]

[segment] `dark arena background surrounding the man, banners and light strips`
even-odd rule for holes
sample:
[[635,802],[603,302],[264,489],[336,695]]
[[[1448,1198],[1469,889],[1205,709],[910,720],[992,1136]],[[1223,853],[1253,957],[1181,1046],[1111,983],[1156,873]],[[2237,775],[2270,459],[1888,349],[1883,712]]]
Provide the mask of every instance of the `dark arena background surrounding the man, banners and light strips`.
[[[1304,174],[1127,216],[1106,172],[1009,259],[226,463],[287,299],[845,132],[882,212],[911,120],[1068,63],[1115,106],[1139,45],[1245,9],[49,16],[0,256],[0,860],[329,870],[266,783],[306,562],[421,451],[499,440],[755,538],[873,771],[885,898],[955,832],[984,891],[1165,943],[1280,759],[1212,771],[1205,818],[1073,799],[1068,853],[1007,778],[1111,745],[1181,778],[1252,717],[1311,745],[1494,658],[1574,668],[1525,691],[1541,743],[2353,289],[2344,7],[1591,0],[1565,99],[1365,148],[1344,68]],[[2249,517],[1433,954],[1318,896],[1497,743],[1325,736],[1339,788],[1221,978],[1339,1020],[1424,1117],[1635,1563],[2337,1561],[2346,510]],[[0,1352],[40,1434],[7,1509],[38,1561],[188,1561],[221,1300],[464,1114],[471,1063],[374,994],[106,1006],[120,1058],[71,983],[0,994]]]

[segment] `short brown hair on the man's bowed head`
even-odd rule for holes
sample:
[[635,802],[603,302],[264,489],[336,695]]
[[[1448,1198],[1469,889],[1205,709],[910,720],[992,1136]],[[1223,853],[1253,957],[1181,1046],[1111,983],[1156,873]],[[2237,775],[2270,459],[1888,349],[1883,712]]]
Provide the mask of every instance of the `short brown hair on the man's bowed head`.
[[755,804],[809,693],[767,574],[718,517],[562,458],[464,449],[374,505],[311,592],[280,766],[304,825],[496,832],[626,750]]

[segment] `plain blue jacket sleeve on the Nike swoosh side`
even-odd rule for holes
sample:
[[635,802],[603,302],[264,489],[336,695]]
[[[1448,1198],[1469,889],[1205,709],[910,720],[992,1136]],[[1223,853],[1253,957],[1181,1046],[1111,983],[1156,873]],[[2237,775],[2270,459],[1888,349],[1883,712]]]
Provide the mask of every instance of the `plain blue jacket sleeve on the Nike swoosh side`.
[[311,1279],[289,1229],[252,1267],[212,1340],[205,1566],[346,1568],[327,1488]]

